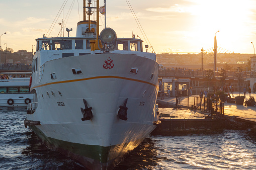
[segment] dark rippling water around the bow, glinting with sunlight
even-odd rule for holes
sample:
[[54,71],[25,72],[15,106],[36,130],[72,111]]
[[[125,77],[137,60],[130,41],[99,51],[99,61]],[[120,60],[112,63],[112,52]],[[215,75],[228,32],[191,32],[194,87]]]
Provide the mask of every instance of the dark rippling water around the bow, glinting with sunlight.
[[[0,109],[0,169],[84,169],[23,125],[26,109]],[[149,136],[114,169],[256,169],[256,135]]]

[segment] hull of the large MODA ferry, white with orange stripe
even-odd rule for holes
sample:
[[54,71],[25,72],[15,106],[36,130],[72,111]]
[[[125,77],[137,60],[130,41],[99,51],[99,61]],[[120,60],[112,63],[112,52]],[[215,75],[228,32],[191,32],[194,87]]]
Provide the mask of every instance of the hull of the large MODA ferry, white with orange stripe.
[[[131,72],[132,68],[138,72]],[[48,147],[87,168],[112,168],[155,128],[157,71],[155,61],[129,54],[48,61],[40,79],[32,83],[38,107],[27,119],[40,125],[30,128]],[[50,78],[52,73],[56,78]],[[117,116],[125,100],[126,121]],[[91,120],[81,120],[83,101],[92,107]]]

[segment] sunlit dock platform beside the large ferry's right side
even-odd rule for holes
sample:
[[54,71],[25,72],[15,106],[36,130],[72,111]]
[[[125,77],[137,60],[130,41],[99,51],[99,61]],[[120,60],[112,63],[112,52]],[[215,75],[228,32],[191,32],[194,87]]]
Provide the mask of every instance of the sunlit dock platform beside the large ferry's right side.
[[[242,95],[243,93],[240,93],[240,96]],[[234,98],[235,96],[239,96],[239,92],[234,92],[234,95],[231,97]],[[251,96],[256,99],[256,94],[251,94]],[[246,93],[245,100],[249,100],[248,93]],[[209,113],[203,114],[190,109],[173,109],[176,103],[175,97],[165,97],[163,100],[157,98],[157,103],[159,112],[163,116],[160,118],[161,125],[154,131],[155,134],[168,135],[175,132],[212,132],[225,128],[226,124],[229,124],[227,120],[243,122],[250,127],[254,127],[256,130],[256,108],[253,106],[225,103],[223,118],[205,119]]]

